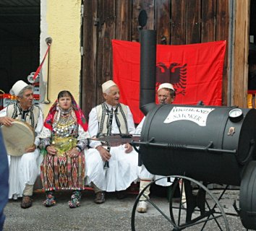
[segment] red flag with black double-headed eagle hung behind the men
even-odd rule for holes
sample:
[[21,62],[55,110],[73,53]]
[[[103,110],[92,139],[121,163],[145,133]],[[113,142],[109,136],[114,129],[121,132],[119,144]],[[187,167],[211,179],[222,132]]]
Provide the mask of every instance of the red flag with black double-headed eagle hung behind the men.
[[[129,105],[140,123],[140,43],[112,40],[114,82],[120,102]],[[170,82],[176,90],[174,104],[222,104],[223,63],[226,41],[189,45],[157,45],[156,88]]]

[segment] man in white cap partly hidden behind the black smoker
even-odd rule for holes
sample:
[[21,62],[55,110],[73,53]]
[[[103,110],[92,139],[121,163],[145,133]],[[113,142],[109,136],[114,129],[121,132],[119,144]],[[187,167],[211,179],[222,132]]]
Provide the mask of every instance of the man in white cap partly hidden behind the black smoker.
[[[175,90],[172,84],[163,83],[160,84],[158,87],[158,103],[160,104],[171,104],[174,102],[175,99]],[[143,123],[145,121],[145,117],[142,119],[140,124],[137,126],[135,134],[140,134],[142,130]],[[141,172],[140,172],[140,192],[148,186],[149,183],[152,182],[153,179],[157,180],[162,178],[161,175],[153,175],[148,172],[144,165],[142,165]],[[171,186],[171,182],[167,181],[167,178],[163,178],[162,180],[158,180],[155,182],[159,186]],[[144,191],[144,195],[149,198],[150,194],[150,187],[148,187]],[[137,212],[147,212],[148,203],[145,199],[145,196],[140,197],[140,202],[137,206]]]

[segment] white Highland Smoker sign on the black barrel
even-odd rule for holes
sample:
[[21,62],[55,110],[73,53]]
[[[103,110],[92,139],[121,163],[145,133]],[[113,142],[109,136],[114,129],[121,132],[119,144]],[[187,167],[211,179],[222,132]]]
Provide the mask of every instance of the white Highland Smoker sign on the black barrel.
[[163,123],[171,123],[174,121],[192,121],[199,126],[206,126],[208,115],[214,108],[189,108],[174,107],[166,117]]

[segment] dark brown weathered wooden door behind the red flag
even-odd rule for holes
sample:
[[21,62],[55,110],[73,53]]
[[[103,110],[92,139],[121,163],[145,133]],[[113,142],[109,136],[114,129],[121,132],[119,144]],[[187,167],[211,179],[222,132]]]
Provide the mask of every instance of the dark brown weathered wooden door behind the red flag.
[[[87,116],[103,102],[101,84],[112,79],[111,39],[139,41],[140,10],[148,14],[144,29],[155,29],[159,44],[229,41],[229,0],[84,0],[83,5],[82,109]],[[227,55],[225,60],[223,105]]]

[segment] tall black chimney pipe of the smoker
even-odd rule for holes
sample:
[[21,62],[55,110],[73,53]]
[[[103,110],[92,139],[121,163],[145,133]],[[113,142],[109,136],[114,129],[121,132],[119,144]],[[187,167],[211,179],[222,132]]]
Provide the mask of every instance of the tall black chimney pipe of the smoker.
[[140,32],[140,110],[155,108],[156,31]]

